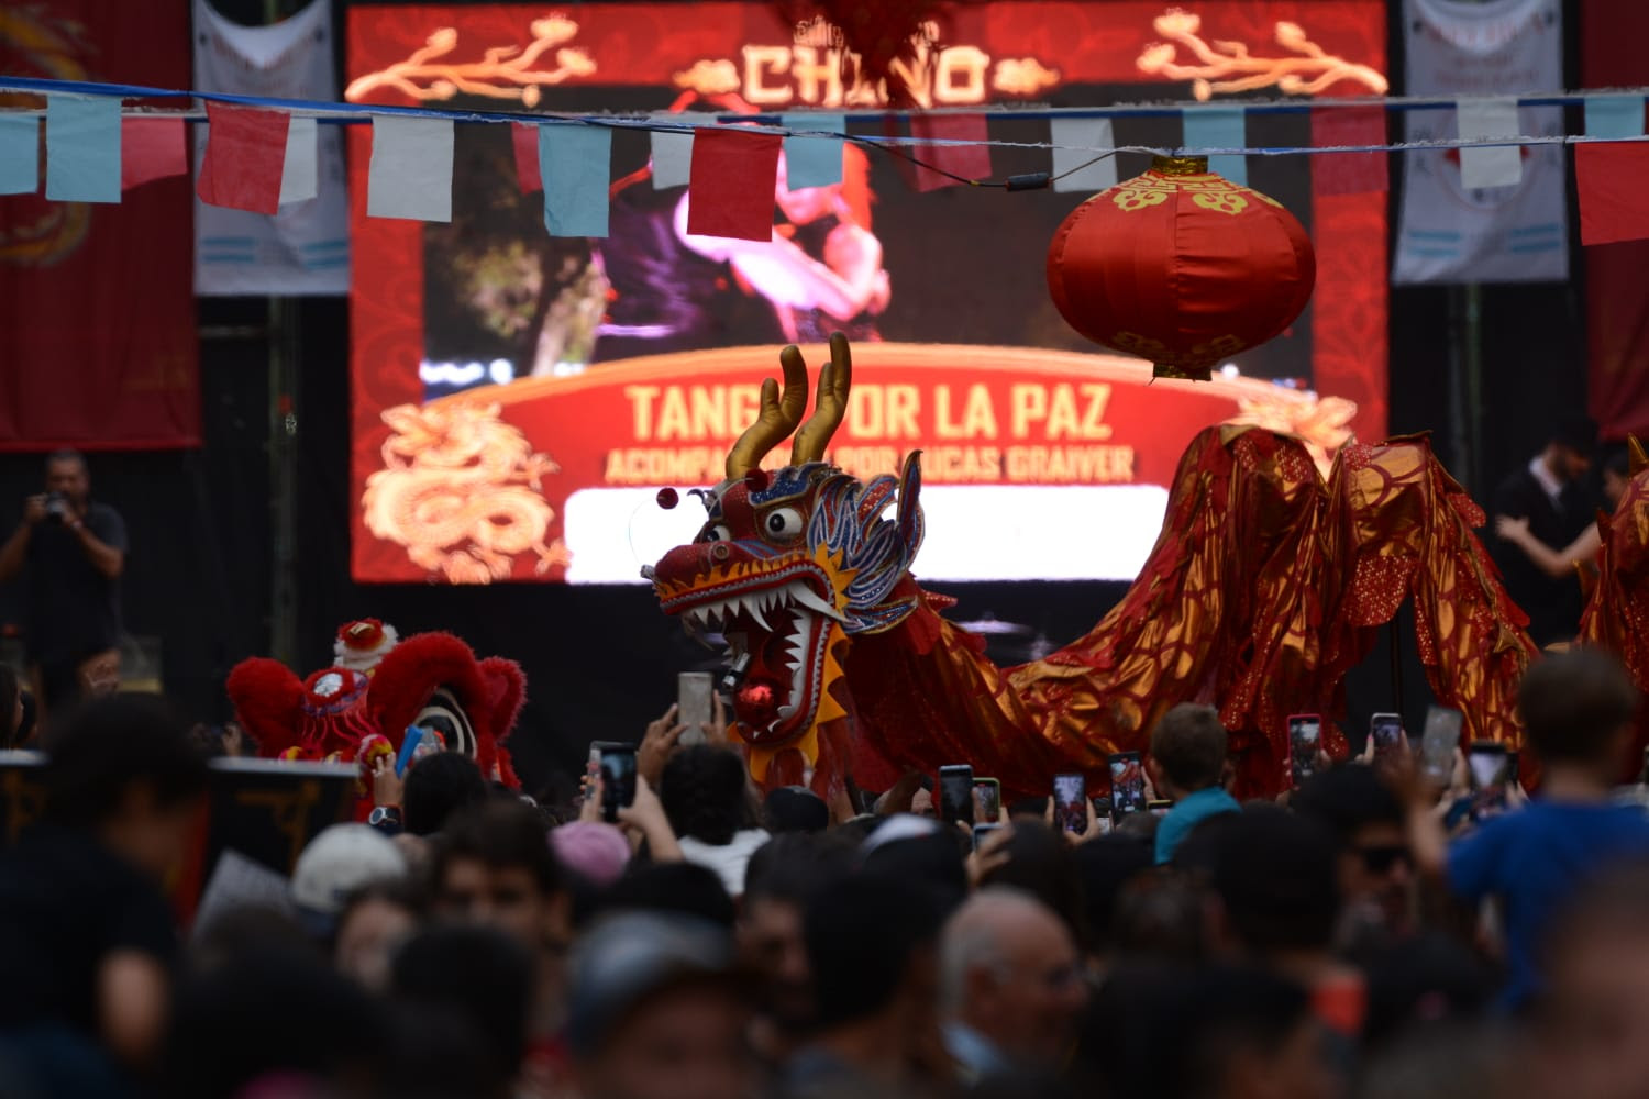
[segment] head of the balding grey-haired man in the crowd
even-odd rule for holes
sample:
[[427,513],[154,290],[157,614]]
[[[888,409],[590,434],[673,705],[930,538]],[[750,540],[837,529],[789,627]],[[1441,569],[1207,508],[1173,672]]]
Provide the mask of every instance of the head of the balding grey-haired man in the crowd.
[[940,995],[945,1045],[973,1079],[1057,1066],[1088,1002],[1070,929],[1009,888],[975,893],[945,924]]

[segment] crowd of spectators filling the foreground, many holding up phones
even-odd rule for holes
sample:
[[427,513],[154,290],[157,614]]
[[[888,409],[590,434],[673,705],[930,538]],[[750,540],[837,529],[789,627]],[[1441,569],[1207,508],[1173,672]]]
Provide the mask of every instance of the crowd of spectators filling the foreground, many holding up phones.
[[101,697],[45,730],[43,819],[0,852],[0,1094],[1636,1096],[1637,704],[1603,654],[1535,664],[1535,793],[1497,814],[1405,745],[1242,804],[1215,710],[1182,705],[1146,768],[1172,806],[1082,832],[1047,799],[935,819],[922,774],[762,796],[671,712],[628,804],[600,768],[559,804],[460,753],[379,768],[394,812],[180,939],[206,751]]

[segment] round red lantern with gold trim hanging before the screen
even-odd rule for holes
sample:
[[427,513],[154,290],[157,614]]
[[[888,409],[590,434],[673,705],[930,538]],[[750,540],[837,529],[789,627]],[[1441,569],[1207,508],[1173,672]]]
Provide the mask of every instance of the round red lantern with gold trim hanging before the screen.
[[1215,362],[1288,328],[1316,275],[1299,221],[1205,157],[1158,157],[1073,209],[1047,250],[1060,315],[1151,359],[1156,377],[1209,381]]

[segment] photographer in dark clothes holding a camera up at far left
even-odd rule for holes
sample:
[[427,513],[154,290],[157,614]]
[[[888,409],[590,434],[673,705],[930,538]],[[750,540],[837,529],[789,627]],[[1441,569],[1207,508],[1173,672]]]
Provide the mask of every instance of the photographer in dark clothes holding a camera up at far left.
[[86,458],[46,458],[46,493],[0,545],[0,583],[26,572],[28,661],[43,709],[120,684],[120,572],[125,522],[91,499]]

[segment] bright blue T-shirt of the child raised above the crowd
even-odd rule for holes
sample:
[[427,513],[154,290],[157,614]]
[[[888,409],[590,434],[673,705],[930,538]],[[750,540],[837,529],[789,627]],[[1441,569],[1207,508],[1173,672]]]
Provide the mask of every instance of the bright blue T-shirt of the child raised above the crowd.
[[1448,852],[1448,883],[1461,898],[1501,900],[1514,1008],[1540,990],[1539,951],[1552,916],[1598,870],[1649,853],[1649,816],[1639,806],[1532,801],[1494,817]]

